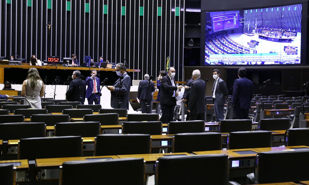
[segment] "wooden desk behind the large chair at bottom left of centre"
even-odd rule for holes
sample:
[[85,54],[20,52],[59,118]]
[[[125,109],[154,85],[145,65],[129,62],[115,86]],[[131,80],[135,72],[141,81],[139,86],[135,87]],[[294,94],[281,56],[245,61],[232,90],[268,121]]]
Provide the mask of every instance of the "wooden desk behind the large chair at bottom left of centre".
[[36,159],[36,177],[38,180],[58,180],[60,166],[67,161],[87,161],[87,160],[110,160],[118,159],[117,156],[92,156],[92,157],[64,157]]

